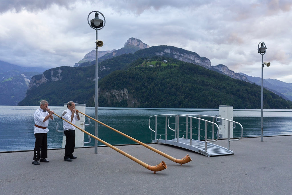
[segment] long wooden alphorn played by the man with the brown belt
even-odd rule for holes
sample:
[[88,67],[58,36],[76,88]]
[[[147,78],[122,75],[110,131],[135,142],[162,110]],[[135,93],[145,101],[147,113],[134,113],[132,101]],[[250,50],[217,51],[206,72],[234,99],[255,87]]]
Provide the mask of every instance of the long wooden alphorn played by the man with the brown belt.
[[[56,113],[54,113],[56,116],[58,116],[59,118],[61,118],[59,115],[57,115]],[[63,120],[65,120],[66,122],[68,122],[69,124],[73,125],[74,127],[78,128],[79,130],[83,131],[84,133],[90,135],[91,137],[93,137],[94,139],[97,139],[98,141],[100,141],[101,143],[109,146],[110,148],[114,149],[115,151],[121,153],[122,155],[130,158],[131,160],[135,161],[136,163],[138,163],[139,165],[142,165],[143,167],[145,167],[146,169],[150,170],[150,171],[153,171],[153,173],[155,174],[157,171],[162,171],[164,169],[167,169],[167,165],[164,161],[161,161],[161,163],[159,163],[158,165],[156,166],[151,166],[151,165],[148,165],[147,163],[144,163],[143,161],[140,161],[138,158],[135,158],[133,156],[131,156],[130,154],[118,149],[117,147],[103,141],[102,139],[99,139],[98,137],[94,136],[93,134],[90,134],[88,133],[87,131],[81,129],[80,127],[77,127],[76,125],[74,125],[72,122],[69,122],[68,120],[64,119],[64,118],[61,118]]]

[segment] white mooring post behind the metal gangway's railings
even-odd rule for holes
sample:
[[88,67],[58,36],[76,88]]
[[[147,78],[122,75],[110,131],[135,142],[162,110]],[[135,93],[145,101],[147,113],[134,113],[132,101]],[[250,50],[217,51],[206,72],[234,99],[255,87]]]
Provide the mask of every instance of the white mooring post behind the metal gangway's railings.
[[[219,106],[219,117],[233,120],[233,106]],[[228,138],[228,121],[220,120],[219,138]],[[233,124],[230,122],[230,138],[233,138]]]

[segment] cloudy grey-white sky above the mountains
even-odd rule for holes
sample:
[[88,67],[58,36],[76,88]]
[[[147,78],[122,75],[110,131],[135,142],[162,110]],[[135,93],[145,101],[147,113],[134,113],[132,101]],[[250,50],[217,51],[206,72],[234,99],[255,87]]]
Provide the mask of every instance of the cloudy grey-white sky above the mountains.
[[261,77],[257,49],[264,42],[263,58],[271,63],[264,78],[292,83],[291,0],[1,0],[0,60],[48,69],[73,66],[95,50],[95,30],[87,22],[91,11],[105,16],[99,51],[120,49],[134,37]]

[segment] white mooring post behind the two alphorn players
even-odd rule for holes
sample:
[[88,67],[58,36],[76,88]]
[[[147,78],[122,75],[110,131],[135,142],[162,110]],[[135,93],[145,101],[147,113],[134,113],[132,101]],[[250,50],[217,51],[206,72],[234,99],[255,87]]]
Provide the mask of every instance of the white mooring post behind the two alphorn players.
[[[81,103],[75,103],[75,109],[79,110],[80,112],[85,114],[85,107],[86,104],[81,104]],[[67,103],[64,103],[64,109],[67,109]],[[75,125],[81,129],[84,130],[85,127],[85,116],[83,114],[79,114],[79,121],[76,121]],[[75,147],[83,147],[84,146],[84,132],[77,129],[75,127]],[[63,142],[62,142],[62,148],[65,148],[66,144],[66,137],[65,134],[63,133]]]

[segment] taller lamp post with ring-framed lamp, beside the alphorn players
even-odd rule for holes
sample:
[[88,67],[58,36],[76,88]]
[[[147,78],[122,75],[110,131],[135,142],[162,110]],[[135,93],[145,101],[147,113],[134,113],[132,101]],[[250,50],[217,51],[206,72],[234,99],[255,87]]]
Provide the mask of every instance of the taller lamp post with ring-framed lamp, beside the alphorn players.
[[[89,23],[89,15],[91,13],[95,12],[95,18],[93,18],[92,20],[90,20],[90,23]],[[100,13],[99,11],[92,11],[88,14],[88,17],[87,17],[87,22],[89,24],[89,26],[93,29],[95,29],[95,119],[97,119],[97,110],[98,110],[98,94],[97,94],[97,91],[98,91],[98,63],[97,63],[97,50],[98,50],[98,47],[101,47],[103,45],[103,42],[98,40],[97,39],[97,31],[102,29],[104,26],[105,26],[105,16],[100,13],[103,17],[104,20],[98,18],[98,13]],[[98,123],[95,122],[95,136],[98,137],[98,133],[97,133],[97,125]],[[95,139],[94,141],[94,153],[97,153],[97,144],[98,144],[98,141]]]

